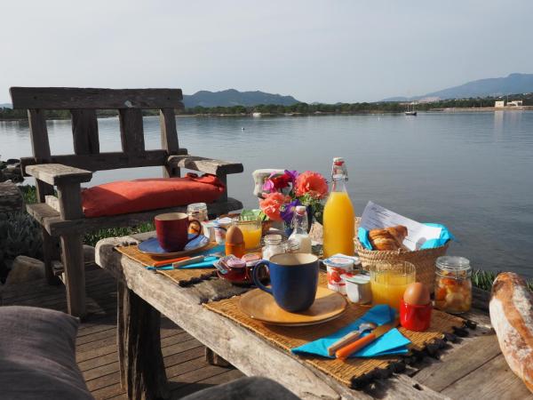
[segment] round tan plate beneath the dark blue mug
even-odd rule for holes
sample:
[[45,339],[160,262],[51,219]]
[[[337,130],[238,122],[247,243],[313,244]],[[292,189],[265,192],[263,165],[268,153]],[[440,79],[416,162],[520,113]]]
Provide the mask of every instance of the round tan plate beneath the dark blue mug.
[[286,326],[323,324],[342,315],[346,306],[342,294],[320,286],[311,308],[300,313],[285,311],[275,303],[271,294],[260,289],[243,294],[239,301],[239,307],[247,316],[266,324]]

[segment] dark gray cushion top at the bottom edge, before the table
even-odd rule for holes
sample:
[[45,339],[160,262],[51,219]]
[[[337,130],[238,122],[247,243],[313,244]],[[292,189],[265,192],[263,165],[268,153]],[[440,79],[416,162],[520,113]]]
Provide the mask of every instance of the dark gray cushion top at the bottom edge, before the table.
[[206,388],[182,400],[298,400],[299,397],[267,378],[241,378],[215,388]]

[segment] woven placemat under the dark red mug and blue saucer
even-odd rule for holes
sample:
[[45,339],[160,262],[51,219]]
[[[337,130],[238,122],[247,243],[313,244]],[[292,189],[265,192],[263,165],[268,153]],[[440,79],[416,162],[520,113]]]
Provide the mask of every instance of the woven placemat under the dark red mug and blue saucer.
[[[205,252],[213,247],[217,246],[216,243],[210,243],[202,249],[202,252]],[[126,257],[131,260],[135,260],[142,264],[145,267],[152,267],[156,261],[164,260],[158,257],[152,257],[149,254],[139,251],[137,244],[131,244],[127,246],[116,246],[115,250],[117,252],[123,253]],[[194,254],[191,254],[194,255]],[[216,268],[183,268],[183,269],[170,269],[170,270],[157,270],[157,274],[162,274],[170,278],[176,284],[180,286],[187,286],[189,284],[195,284],[204,279],[208,279],[211,276],[217,275]]]

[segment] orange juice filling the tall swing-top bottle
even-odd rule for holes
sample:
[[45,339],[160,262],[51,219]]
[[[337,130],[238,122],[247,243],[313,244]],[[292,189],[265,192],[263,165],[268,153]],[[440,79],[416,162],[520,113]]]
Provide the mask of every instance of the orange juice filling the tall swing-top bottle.
[[346,192],[331,192],[324,206],[324,258],[354,255],[354,206]]

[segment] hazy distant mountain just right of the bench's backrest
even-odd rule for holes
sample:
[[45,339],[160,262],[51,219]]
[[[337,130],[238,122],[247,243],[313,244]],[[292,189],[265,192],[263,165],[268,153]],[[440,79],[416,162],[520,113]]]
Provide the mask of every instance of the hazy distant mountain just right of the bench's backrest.
[[290,106],[299,101],[292,96],[282,96],[266,92],[239,92],[228,89],[221,92],[200,91],[195,94],[184,94],[183,102],[186,108],[202,107],[232,107],[257,106],[259,104],[276,104]]

